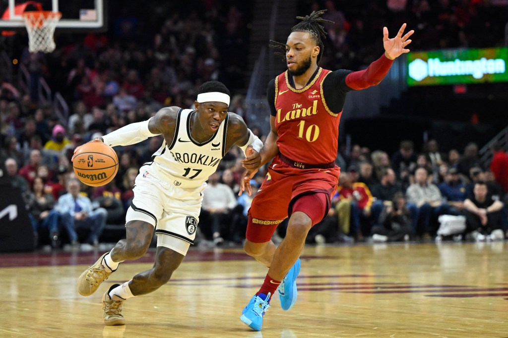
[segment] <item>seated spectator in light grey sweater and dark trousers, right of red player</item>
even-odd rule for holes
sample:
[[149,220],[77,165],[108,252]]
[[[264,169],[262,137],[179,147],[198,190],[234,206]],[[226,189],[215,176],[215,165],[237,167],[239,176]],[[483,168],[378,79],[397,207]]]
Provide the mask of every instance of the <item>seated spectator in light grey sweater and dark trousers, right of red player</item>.
[[407,202],[415,204],[419,209],[417,228],[413,229],[413,233],[421,234],[424,241],[431,239],[429,231],[436,230],[431,225],[436,223],[434,220],[443,212],[441,192],[435,184],[429,184],[427,178],[427,170],[419,168],[415,173],[415,183],[406,190]]

